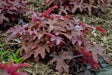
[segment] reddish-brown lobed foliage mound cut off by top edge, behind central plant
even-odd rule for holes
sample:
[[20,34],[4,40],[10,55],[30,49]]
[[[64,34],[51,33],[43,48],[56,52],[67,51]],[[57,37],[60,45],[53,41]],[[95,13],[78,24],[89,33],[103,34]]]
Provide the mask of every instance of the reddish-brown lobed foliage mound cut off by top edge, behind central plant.
[[44,0],[47,6],[59,6],[59,14],[77,12],[98,13],[99,10],[106,12],[107,6],[111,6],[110,0]]

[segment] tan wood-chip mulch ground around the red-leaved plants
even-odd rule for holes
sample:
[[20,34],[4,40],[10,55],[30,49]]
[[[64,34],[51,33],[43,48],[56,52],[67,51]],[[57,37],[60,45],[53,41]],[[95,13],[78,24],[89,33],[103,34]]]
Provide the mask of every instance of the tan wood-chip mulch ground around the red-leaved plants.
[[[35,11],[42,8],[42,7],[37,8],[38,4],[40,3],[38,3],[35,6],[33,6],[32,3],[33,2],[31,2],[30,5],[32,6],[32,8],[35,8],[34,9]],[[85,24],[89,24],[91,26],[98,26],[105,29],[106,31],[105,34],[102,34],[101,32],[96,31],[92,36],[88,36],[88,38],[92,42],[96,42],[100,44],[101,46],[103,46],[104,48],[106,48],[107,49],[106,53],[108,54],[109,57],[112,57],[112,16],[111,16],[112,8],[108,8],[107,10],[108,11],[106,13],[100,13],[97,16],[95,15],[89,16],[88,14],[76,14],[75,18],[80,19]],[[16,40],[6,42],[5,39],[9,35],[5,33],[6,31],[2,31],[2,30],[0,31],[2,33],[0,35],[0,43],[5,44],[4,49],[5,50],[10,49],[9,53],[15,52],[18,48],[17,47],[18,42]],[[53,70],[53,66],[49,66],[47,63],[44,63],[43,61],[35,63],[30,58],[29,60],[26,60],[25,62],[31,64],[31,66],[21,68],[18,71],[26,72],[28,73],[28,75],[59,75],[58,72],[55,72],[55,70]],[[77,73],[74,73],[74,75],[75,74],[78,75]],[[64,73],[63,75],[68,75],[68,74]]]

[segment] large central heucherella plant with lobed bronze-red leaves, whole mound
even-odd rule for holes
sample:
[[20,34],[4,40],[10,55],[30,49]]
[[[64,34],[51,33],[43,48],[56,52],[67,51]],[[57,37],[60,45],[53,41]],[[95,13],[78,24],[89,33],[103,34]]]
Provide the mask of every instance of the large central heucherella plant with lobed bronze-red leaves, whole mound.
[[44,13],[30,11],[33,24],[14,26],[7,31],[10,33],[7,41],[21,38],[19,50],[23,61],[31,55],[34,55],[35,61],[49,56],[49,59],[52,57],[49,64],[56,63],[56,70],[60,73],[69,73],[71,64],[68,61],[74,60],[75,63],[79,61],[77,59],[80,59],[82,64],[88,62],[92,68],[98,69],[98,55],[110,64],[109,57],[104,53],[105,49],[86,38],[89,29],[102,33],[105,33],[105,30],[83,24],[72,15],[63,17],[49,14],[55,8],[58,7],[51,7]]

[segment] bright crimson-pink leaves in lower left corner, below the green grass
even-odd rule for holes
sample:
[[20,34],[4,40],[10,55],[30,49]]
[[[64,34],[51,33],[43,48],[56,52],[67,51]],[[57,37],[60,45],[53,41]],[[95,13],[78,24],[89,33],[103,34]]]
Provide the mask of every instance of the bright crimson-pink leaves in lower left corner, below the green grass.
[[0,63],[0,75],[27,75],[26,73],[16,72],[19,68],[23,66],[30,66],[30,65],[27,63],[14,64],[13,62],[10,62],[9,64]]

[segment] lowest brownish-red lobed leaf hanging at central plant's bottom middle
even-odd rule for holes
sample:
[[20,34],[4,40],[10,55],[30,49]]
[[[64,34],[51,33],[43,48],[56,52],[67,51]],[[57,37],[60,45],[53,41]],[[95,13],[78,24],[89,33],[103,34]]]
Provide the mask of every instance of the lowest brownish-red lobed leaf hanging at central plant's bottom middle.
[[62,73],[63,71],[69,72],[69,66],[65,63],[65,59],[71,59],[71,56],[68,54],[68,52],[61,51],[61,54],[51,54],[50,56],[53,57],[53,59],[50,61],[50,64],[53,64],[56,62],[56,70],[58,70],[59,73]]

